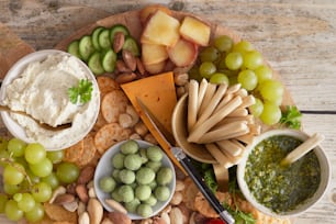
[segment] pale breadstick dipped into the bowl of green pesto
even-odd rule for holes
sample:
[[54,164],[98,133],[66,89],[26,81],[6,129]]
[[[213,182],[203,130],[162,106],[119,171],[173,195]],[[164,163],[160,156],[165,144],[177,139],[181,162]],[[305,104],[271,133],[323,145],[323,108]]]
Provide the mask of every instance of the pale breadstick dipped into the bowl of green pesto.
[[315,133],[296,148],[294,148],[291,153],[289,153],[281,161],[280,165],[285,167],[296,161],[310,150],[315,148],[322,141],[324,141],[324,135]]

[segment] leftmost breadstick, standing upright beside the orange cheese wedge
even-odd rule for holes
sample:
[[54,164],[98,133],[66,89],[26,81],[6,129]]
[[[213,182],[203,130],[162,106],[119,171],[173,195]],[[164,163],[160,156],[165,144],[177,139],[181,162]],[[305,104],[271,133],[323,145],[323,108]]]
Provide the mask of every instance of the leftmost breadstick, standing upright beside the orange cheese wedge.
[[199,82],[191,79],[188,96],[188,130],[190,131],[197,122]]

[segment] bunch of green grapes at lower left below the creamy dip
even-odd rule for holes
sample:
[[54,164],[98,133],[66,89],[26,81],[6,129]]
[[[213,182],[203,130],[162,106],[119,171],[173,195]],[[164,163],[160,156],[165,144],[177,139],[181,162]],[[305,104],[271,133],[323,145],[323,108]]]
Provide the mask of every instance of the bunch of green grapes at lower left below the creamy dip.
[[43,219],[43,202],[61,183],[77,180],[77,166],[63,161],[64,152],[46,152],[38,143],[26,144],[19,138],[0,138],[0,165],[3,191],[0,213],[11,221]]

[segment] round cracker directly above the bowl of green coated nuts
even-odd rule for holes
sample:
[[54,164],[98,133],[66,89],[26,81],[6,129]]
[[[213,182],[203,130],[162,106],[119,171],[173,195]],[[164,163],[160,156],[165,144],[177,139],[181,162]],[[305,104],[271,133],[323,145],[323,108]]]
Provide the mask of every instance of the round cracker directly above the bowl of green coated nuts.
[[127,139],[130,133],[123,128],[119,123],[110,123],[102,126],[94,135],[94,145],[100,154],[103,154],[112,145],[120,141]]

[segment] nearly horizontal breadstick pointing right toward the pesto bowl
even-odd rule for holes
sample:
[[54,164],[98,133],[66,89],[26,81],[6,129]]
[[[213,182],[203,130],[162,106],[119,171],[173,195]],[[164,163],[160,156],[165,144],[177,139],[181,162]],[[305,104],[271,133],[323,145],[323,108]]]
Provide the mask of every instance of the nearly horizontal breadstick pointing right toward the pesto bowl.
[[217,130],[203,134],[197,143],[213,143],[222,139],[229,139],[249,132],[245,122],[226,124]]

